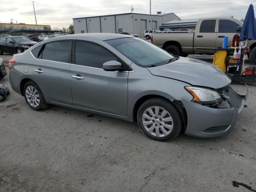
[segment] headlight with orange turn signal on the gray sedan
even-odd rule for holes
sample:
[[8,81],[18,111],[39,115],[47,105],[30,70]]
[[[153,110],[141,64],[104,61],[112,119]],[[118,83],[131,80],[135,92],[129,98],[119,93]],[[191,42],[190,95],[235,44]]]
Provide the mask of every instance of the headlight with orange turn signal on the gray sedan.
[[222,97],[218,92],[214,90],[193,86],[186,86],[185,89],[194,97],[194,101],[196,102],[205,104],[222,102]]

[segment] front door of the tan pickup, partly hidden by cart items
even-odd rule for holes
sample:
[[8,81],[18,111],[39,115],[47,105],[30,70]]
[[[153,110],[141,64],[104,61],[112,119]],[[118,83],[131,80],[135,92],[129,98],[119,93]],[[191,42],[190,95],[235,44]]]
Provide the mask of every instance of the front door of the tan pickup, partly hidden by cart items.
[[228,46],[232,46],[232,40],[234,35],[237,34],[236,29],[238,26],[240,26],[240,24],[230,19],[219,19],[216,47],[222,47],[224,36],[228,36]]

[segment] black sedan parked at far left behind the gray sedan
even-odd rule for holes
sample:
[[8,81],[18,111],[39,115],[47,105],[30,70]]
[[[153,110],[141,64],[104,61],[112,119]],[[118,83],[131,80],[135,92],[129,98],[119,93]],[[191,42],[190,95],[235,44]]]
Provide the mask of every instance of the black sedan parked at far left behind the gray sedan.
[[0,55],[4,53],[22,53],[37,44],[22,36],[8,36],[0,38]]

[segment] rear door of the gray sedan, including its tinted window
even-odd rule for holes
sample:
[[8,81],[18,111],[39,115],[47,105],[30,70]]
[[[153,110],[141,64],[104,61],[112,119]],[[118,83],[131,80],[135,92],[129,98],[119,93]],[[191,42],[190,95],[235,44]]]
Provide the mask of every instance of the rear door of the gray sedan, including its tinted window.
[[46,43],[40,52],[36,48],[32,50],[34,57],[38,58],[32,64],[36,83],[52,102],[72,105],[69,78],[71,47],[71,40],[62,40]]

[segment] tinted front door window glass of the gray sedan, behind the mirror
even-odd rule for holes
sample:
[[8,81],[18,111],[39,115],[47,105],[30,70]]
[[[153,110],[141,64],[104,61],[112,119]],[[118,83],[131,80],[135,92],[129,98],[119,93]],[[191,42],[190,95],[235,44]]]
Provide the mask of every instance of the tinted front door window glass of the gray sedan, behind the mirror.
[[116,56],[99,45],[77,41],[75,48],[76,64],[88,67],[102,68],[103,63],[117,60]]

